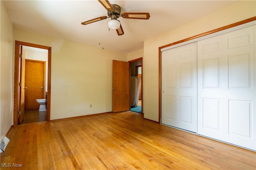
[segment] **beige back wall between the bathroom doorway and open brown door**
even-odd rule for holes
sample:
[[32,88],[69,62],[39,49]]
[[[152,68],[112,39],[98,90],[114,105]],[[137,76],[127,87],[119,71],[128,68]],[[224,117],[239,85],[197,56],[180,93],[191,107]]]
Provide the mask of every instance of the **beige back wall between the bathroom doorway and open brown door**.
[[52,47],[51,120],[112,111],[112,60],[126,54],[20,29],[14,38]]

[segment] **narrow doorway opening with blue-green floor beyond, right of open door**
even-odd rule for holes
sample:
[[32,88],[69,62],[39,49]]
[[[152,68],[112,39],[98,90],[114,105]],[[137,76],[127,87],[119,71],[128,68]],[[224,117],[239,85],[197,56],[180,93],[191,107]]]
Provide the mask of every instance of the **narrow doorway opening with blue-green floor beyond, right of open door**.
[[[128,61],[130,63],[130,76],[131,78],[132,77],[137,77],[136,78],[136,82],[138,84],[137,86],[137,90],[136,92],[138,93],[137,97],[136,97],[136,102],[134,102],[135,104],[132,106],[132,102],[131,102],[131,109],[130,111],[135,111],[137,113],[142,113],[143,114],[143,95],[142,95],[142,80],[143,80],[143,75],[142,75],[142,57],[141,58],[138,58],[138,59],[135,59],[135,60],[132,60],[132,61]],[[132,79],[131,79],[132,80]],[[131,81],[132,83],[132,81]],[[131,90],[131,101],[132,101],[132,86],[130,87],[130,90]]]

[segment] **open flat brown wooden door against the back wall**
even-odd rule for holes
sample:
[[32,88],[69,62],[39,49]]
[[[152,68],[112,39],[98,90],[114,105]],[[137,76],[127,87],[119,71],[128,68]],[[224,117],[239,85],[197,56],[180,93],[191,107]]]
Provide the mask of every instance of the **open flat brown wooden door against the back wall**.
[[129,63],[113,60],[113,112],[130,110]]

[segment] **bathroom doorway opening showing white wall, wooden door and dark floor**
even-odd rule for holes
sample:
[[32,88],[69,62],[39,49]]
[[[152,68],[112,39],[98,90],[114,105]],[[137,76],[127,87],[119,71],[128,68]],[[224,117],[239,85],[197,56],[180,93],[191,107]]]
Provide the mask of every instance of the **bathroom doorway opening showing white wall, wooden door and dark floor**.
[[[24,74],[24,119],[20,124],[46,121],[46,105],[36,100],[46,100],[48,50],[22,46],[26,52]],[[39,108],[44,108],[44,110]]]

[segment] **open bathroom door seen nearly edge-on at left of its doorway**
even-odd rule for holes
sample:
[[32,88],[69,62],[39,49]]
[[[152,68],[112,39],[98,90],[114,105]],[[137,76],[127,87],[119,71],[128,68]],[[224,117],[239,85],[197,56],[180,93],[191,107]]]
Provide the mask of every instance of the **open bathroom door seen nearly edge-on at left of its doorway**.
[[18,124],[21,124],[24,119],[24,105],[25,105],[25,50],[20,46],[20,93],[19,93],[19,113]]

